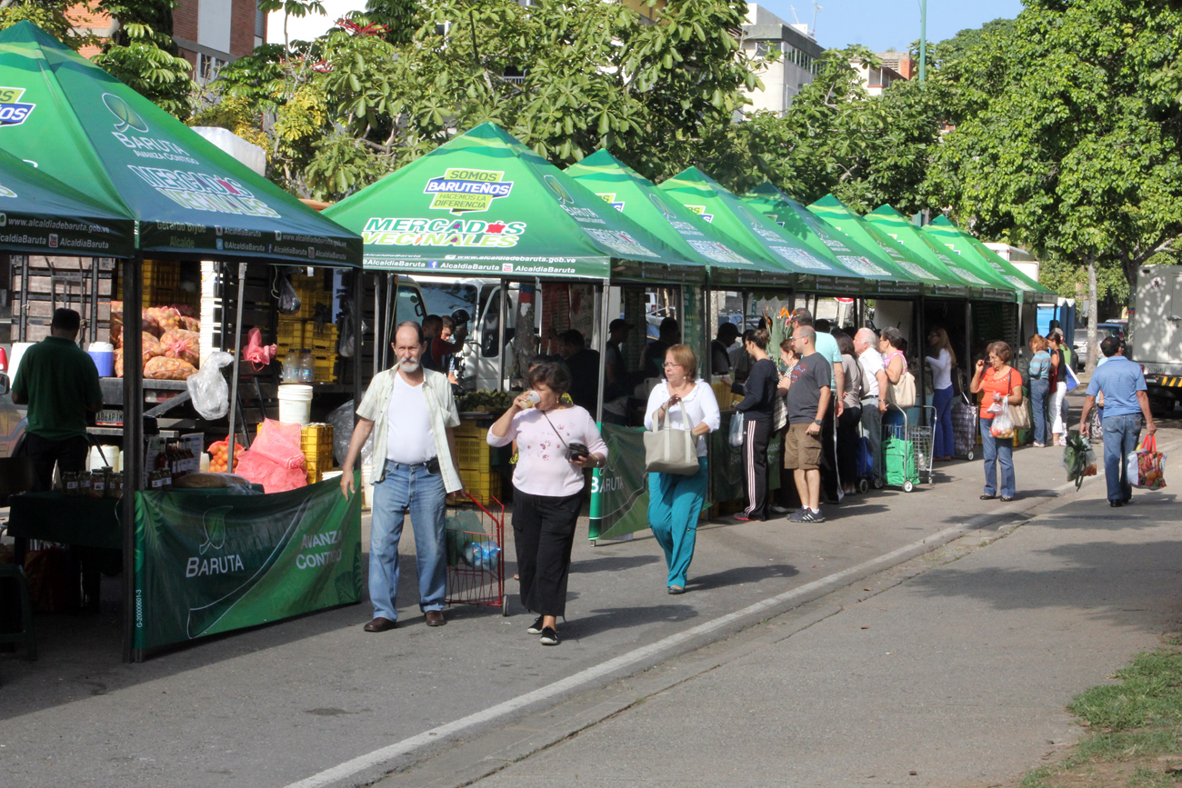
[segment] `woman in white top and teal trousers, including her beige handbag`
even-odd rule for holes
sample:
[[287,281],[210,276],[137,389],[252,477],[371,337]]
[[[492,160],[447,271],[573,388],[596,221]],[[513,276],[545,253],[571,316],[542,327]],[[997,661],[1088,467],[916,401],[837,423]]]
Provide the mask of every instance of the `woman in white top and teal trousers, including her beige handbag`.
[[697,517],[709,475],[706,436],[719,429],[714,390],[697,378],[697,358],[686,345],[665,351],[665,380],[644,409],[644,461],[649,469],[649,527],[665,554],[669,593],[686,591],[694,560]]

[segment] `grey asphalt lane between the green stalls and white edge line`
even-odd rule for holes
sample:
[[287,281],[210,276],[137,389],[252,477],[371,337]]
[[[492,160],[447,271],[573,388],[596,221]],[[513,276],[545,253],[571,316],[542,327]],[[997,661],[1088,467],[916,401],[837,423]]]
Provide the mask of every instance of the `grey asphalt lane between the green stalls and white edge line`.
[[[463,730],[475,737],[733,634],[761,614],[660,645],[761,600],[804,590],[799,599],[767,608],[774,614],[805,601],[813,584],[834,573],[897,551],[903,552],[885,564],[923,552],[908,546],[949,526],[1002,513],[983,533],[1033,507],[1053,506],[1053,490],[1064,482],[1059,452],[1022,449],[1015,463],[1019,500],[1008,507],[979,501],[980,463],[957,462],[944,465],[934,486],[856,499],[823,525],[712,523],[700,530],[689,593],[682,597],[665,593],[663,558],[651,538],[597,547],[579,539],[557,649],[525,632],[532,617],[515,600],[509,618],[454,607],[446,627],[424,626],[414,604],[414,561],[405,560],[414,553],[409,533],[402,546],[403,624],[382,634],[362,631],[371,614],[363,604],[124,665],[111,584],[102,614],[39,617],[38,662],[0,656],[0,773],[6,786],[288,786],[586,676],[621,655],[654,649],[613,672]],[[851,579],[843,575],[843,585]],[[338,783],[375,779],[446,748],[447,738],[434,748],[424,738],[428,743],[409,755],[371,763]]]

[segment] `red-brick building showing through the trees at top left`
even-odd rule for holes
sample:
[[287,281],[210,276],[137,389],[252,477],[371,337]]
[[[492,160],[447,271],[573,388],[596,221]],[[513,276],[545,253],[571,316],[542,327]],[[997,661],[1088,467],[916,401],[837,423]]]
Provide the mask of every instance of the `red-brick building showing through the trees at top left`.
[[[113,32],[113,22],[89,4],[70,11],[77,27],[99,38]],[[256,0],[180,0],[173,11],[173,40],[181,57],[193,65],[195,79],[213,78],[222,65],[251,54],[267,37],[266,14]],[[98,50],[83,51],[86,57]]]

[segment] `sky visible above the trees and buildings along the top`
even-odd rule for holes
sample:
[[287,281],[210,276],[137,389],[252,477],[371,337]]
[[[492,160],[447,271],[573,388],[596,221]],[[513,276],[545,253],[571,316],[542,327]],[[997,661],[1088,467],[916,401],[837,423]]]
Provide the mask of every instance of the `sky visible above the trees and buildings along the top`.
[[[291,38],[310,39],[319,35],[346,11],[365,7],[365,0],[323,0],[327,17],[290,19]],[[847,44],[863,44],[875,52],[889,48],[905,51],[920,38],[920,0],[818,0],[817,43],[827,48]],[[812,0],[764,0],[761,6],[785,21],[812,24]],[[792,7],[795,7],[795,17]],[[952,38],[966,27],[980,27],[998,19],[1013,19],[1022,9],[1019,0],[928,0],[928,40]],[[267,25],[267,40],[284,40],[282,15],[272,14]]]

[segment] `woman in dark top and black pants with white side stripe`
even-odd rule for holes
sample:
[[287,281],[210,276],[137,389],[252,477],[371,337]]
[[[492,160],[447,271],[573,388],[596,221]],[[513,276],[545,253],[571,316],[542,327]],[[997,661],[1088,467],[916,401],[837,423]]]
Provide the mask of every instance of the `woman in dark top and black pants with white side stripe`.
[[767,496],[767,444],[772,437],[772,413],[775,408],[775,384],[779,372],[767,356],[768,334],[756,328],[743,334],[743,346],[754,359],[747,376],[746,396],[735,405],[743,416],[742,478],[747,508],[735,520],[767,520],[772,513]]

